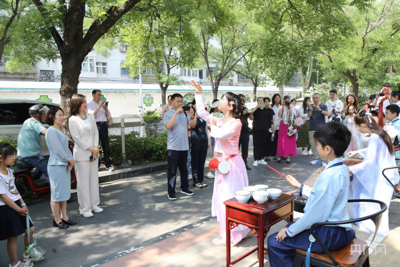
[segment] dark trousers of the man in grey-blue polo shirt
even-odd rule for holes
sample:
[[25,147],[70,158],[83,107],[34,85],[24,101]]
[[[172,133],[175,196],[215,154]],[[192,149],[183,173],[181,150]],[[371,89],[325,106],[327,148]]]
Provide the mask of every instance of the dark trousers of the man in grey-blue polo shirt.
[[168,161],[168,193],[175,193],[176,185],[176,170],[179,167],[180,172],[180,189],[185,190],[189,188],[189,181],[187,179],[187,150],[172,150],[166,151]]

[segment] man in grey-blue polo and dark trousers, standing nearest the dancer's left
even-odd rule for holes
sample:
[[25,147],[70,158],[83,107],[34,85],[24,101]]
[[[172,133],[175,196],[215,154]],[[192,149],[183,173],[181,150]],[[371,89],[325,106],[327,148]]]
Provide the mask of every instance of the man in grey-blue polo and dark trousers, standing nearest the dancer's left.
[[168,160],[168,199],[176,200],[175,184],[176,184],[176,170],[179,167],[180,172],[180,193],[186,195],[193,195],[189,190],[189,182],[187,179],[187,150],[189,149],[189,141],[187,138],[187,123],[191,128],[196,126],[196,117],[194,112],[184,114],[182,109],[182,96],[180,94],[173,94],[171,96],[172,108],[165,112],[163,120],[165,123],[166,131],[168,133],[166,143],[166,153]]

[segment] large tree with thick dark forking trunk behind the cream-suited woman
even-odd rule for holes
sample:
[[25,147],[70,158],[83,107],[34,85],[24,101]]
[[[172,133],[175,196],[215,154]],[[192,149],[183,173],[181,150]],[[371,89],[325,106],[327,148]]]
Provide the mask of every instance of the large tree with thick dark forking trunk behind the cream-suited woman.
[[[69,99],[77,92],[79,74],[84,57],[93,49],[94,44],[113,28],[118,20],[129,11],[143,12],[153,6],[151,0],[126,1],[51,1],[32,0],[36,13],[33,14],[31,25],[25,32],[35,32],[51,46],[55,46],[61,59],[61,108],[69,116]],[[33,9],[29,8],[33,13]],[[38,15],[40,19],[37,19]],[[87,25],[87,27],[85,27]],[[37,27],[37,28],[36,28]],[[26,43],[37,44],[40,39],[27,39]],[[37,59],[35,51],[26,50],[26,46],[14,44],[15,51],[24,51],[30,57],[23,58],[25,65],[32,64]],[[40,55],[47,60],[53,60],[53,51]],[[15,62],[21,61],[14,56],[8,66],[16,69]],[[8,63],[8,62],[7,62]],[[12,68],[14,67],[14,68]]]

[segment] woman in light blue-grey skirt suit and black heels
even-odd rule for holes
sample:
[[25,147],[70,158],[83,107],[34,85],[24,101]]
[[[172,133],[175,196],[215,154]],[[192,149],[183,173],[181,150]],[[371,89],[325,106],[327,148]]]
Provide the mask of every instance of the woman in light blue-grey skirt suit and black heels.
[[[53,212],[53,226],[61,229],[76,224],[66,213],[66,200],[71,196],[70,171],[75,164],[68,148],[68,137],[61,131],[64,124],[64,112],[58,107],[52,107],[47,112],[48,127],[45,139],[50,152],[47,163],[47,173],[50,179],[50,206]],[[60,216],[61,212],[61,216]]]

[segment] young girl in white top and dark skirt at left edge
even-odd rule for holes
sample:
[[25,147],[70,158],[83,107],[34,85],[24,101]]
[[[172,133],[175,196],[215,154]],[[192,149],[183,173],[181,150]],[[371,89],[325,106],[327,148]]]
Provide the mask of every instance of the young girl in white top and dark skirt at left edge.
[[[0,144],[0,240],[7,239],[7,252],[9,267],[31,267],[33,262],[29,255],[23,254],[25,262],[18,260],[16,256],[16,239],[18,235],[25,233],[25,247],[28,245],[26,233],[25,203],[16,190],[13,171],[7,166],[13,165],[16,158],[16,150],[7,143]],[[30,240],[33,235],[33,224],[29,221]]]

